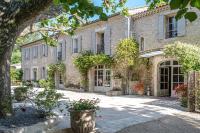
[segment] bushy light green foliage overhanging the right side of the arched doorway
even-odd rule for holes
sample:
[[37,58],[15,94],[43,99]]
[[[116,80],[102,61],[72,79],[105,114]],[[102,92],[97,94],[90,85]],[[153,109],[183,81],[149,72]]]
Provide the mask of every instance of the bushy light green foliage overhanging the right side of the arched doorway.
[[200,70],[200,48],[191,44],[175,42],[164,49],[166,56],[176,57],[184,72]]

